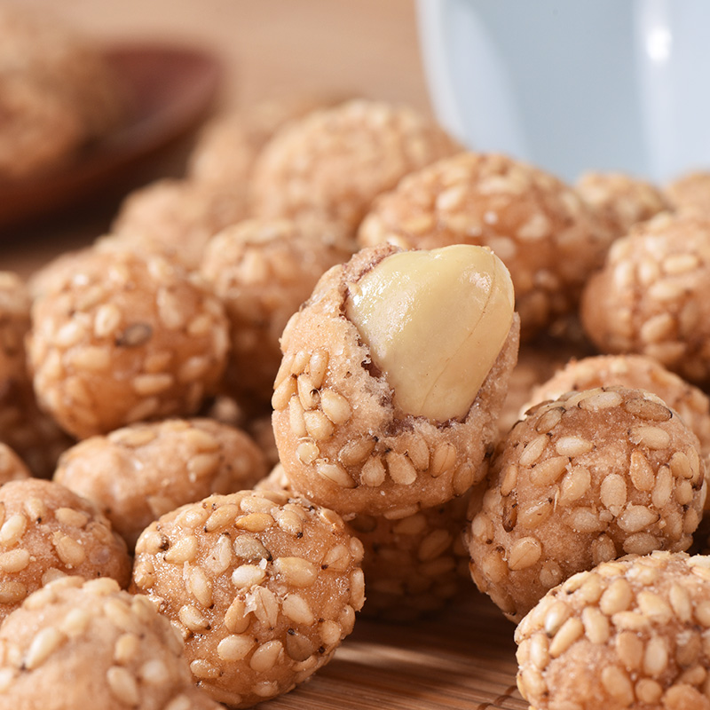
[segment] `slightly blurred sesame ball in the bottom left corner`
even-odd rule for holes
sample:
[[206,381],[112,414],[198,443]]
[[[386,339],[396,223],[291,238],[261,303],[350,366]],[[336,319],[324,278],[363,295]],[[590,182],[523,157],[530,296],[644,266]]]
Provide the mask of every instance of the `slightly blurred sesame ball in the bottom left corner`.
[[114,580],[65,577],[0,631],[0,705],[15,710],[220,710],[194,687],[170,621]]

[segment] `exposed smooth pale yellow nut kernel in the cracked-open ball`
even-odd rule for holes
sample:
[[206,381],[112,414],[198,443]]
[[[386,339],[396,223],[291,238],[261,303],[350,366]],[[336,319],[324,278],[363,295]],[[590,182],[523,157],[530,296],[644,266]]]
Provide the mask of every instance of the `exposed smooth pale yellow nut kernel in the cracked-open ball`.
[[387,256],[349,285],[348,318],[407,414],[463,417],[513,319],[513,285],[488,248]]

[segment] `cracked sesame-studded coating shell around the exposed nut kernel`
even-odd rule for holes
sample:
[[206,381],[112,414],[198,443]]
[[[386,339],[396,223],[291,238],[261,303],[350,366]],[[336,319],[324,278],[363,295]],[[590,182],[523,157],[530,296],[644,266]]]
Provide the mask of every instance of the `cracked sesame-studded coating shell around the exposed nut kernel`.
[[397,251],[362,249],[333,267],[281,339],[272,398],[281,463],[294,490],[343,515],[406,517],[480,481],[517,358],[516,317],[462,421],[400,411],[343,305],[349,288]]

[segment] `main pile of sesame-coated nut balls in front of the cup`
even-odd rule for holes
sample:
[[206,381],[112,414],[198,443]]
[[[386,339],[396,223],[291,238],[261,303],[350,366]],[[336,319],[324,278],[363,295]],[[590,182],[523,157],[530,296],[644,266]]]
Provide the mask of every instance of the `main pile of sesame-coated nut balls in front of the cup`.
[[707,185],[289,99],[0,273],[0,706],[255,706],[477,587],[533,710],[710,708]]

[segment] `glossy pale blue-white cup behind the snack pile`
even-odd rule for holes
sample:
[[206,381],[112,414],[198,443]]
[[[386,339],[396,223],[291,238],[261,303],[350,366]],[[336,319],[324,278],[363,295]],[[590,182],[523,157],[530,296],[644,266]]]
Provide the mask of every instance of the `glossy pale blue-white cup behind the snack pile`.
[[438,119],[575,180],[710,170],[710,0],[417,0]]

